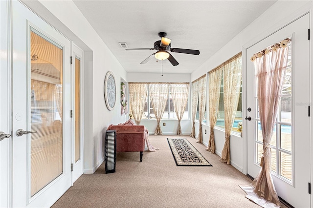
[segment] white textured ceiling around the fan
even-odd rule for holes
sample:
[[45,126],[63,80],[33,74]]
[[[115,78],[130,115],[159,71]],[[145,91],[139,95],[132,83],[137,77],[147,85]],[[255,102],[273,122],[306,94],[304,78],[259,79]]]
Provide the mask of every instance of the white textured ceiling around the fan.
[[[74,0],[82,14],[127,72],[161,71],[162,62],[139,64],[156,50],[166,32],[172,47],[200,50],[200,55],[171,53],[179,62],[163,61],[163,73],[192,73],[276,0]],[[251,37],[252,38],[252,37]],[[240,51],[238,51],[240,52]],[[235,54],[234,54],[235,55]]]

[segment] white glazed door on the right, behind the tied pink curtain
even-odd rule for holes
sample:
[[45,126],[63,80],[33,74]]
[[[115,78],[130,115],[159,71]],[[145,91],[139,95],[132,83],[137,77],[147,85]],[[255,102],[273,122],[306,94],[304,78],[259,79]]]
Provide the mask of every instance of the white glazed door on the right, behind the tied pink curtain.
[[309,14],[293,21],[268,38],[247,49],[247,173],[260,171],[263,139],[256,93],[255,69],[249,60],[253,54],[291,39],[288,67],[273,136],[271,173],[278,196],[293,207],[310,207],[310,66]]

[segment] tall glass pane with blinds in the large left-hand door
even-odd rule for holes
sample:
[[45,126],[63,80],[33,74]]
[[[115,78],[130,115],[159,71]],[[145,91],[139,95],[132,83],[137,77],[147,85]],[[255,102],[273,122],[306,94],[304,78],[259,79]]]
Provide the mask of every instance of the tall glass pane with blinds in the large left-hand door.
[[63,49],[34,31],[31,53],[31,196],[63,173]]

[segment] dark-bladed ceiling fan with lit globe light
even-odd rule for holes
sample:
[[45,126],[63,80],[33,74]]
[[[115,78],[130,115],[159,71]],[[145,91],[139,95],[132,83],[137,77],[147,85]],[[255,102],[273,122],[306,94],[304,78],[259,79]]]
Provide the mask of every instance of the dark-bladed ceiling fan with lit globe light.
[[173,64],[173,66],[176,66],[179,64],[179,62],[174,59],[174,57],[167,51],[171,51],[174,53],[185,53],[185,54],[193,54],[193,55],[199,55],[199,50],[192,50],[192,49],[183,49],[183,48],[171,48],[171,39],[165,38],[166,37],[165,32],[159,32],[158,36],[161,38],[160,41],[156,41],[154,43],[153,48],[128,48],[127,51],[131,50],[157,50],[156,53],[151,54],[147,59],[143,60],[140,64],[145,64],[149,62],[153,57],[155,57],[158,60],[165,60],[167,59],[169,62]]

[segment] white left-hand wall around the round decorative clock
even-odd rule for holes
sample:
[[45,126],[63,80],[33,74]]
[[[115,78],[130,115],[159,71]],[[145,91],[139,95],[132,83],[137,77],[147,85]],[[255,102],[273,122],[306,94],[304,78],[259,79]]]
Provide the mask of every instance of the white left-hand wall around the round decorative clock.
[[[70,30],[80,40],[75,42],[78,46],[90,49],[84,60],[84,173],[93,173],[104,160],[103,146],[107,127],[125,122],[125,115],[120,114],[119,86],[121,77],[126,78],[127,74],[72,1],[40,2],[66,27],[55,26],[57,29],[64,34]],[[38,12],[40,13],[39,10]],[[117,87],[116,103],[112,111],[107,109],[104,100],[104,79],[108,70],[113,72]]]

